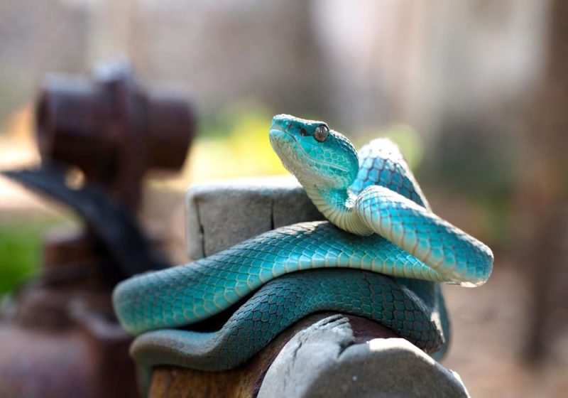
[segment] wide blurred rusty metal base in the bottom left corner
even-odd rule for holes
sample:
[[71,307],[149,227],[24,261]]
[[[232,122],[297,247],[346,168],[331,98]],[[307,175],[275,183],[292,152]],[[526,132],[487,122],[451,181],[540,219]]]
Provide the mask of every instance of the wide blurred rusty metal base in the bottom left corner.
[[104,306],[108,294],[29,293],[18,318],[0,324],[0,397],[137,397],[131,338],[85,306]]

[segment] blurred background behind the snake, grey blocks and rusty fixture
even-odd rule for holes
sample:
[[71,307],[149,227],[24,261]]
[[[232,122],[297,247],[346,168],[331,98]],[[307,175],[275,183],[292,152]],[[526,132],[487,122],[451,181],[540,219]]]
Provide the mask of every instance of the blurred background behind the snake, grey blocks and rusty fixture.
[[[496,256],[485,286],[444,287],[444,365],[472,397],[564,397],[565,21],[562,0],[0,0],[0,169],[39,162],[46,73],[128,58],[196,109],[182,172],[149,173],[142,206],[181,263],[188,185],[285,173],[273,114],[322,119],[356,146],[389,136],[435,212]],[[0,303],[38,276],[45,230],[77,222],[0,178]]]

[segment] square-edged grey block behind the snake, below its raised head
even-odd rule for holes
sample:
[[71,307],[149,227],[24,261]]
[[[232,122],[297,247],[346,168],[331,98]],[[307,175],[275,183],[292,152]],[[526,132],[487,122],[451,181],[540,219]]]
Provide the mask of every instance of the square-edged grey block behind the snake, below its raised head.
[[293,177],[200,183],[185,194],[187,256],[200,259],[262,232],[324,220]]

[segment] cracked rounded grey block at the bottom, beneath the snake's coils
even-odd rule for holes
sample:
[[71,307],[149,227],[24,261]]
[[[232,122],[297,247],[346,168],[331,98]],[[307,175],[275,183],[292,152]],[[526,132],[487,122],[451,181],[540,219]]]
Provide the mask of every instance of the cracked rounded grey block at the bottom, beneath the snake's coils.
[[294,336],[264,377],[258,398],[469,397],[457,373],[407,340],[354,343],[349,320],[322,319]]

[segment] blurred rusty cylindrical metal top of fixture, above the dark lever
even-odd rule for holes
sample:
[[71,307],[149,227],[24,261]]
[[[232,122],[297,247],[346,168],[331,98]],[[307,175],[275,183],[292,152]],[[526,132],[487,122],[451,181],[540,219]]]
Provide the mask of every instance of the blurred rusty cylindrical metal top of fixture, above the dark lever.
[[195,127],[187,99],[145,90],[124,63],[92,80],[48,77],[35,115],[43,162],[79,167],[131,210],[146,171],[183,165]]

